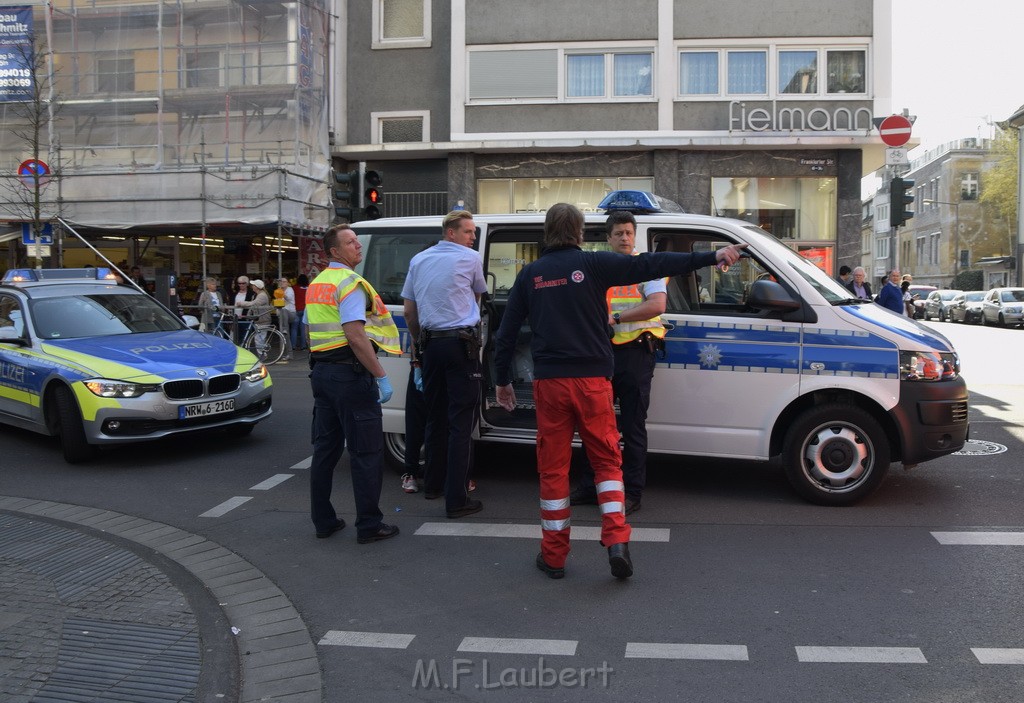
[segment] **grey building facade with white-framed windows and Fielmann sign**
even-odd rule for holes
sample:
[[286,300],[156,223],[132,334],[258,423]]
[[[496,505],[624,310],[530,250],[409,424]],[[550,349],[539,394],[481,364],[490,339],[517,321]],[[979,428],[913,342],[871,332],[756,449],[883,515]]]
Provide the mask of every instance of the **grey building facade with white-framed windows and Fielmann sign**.
[[336,169],[384,173],[386,215],[591,211],[635,187],[749,220],[833,273],[860,261],[890,0],[565,0],[557,17],[537,0],[370,0],[338,28]]

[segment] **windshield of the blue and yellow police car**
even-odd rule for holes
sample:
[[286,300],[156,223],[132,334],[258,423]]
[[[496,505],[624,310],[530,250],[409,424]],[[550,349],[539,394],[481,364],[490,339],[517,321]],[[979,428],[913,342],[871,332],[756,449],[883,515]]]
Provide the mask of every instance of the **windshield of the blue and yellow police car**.
[[66,340],[184,328],[176,316],[143,295],[94,294],[41,298],[31,305],[36,336]]

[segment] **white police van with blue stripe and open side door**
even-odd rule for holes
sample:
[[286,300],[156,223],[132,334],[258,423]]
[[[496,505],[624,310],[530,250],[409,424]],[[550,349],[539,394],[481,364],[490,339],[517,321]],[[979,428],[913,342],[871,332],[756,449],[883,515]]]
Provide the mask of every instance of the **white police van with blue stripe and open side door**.
[[[666,348],[647,418],[654,453],[777,460],[794,489],[821,504],[853,503],[892,462],[913,466],[962,448],[968,391],[949,341],[912,319],[851,297],[841,283],[761,228],[685,214],[652,193],[616,191],[586,215],[585,249],[607,249],[606,212],[637,216],[636,247],[711,252],[748,245],[725,270],[668,281]],[[484,381],[475,438],[536,441],[530,331],[518,336],[509,412],[496,400],[493,334],[516,274],[542,250],[544,214],[477,215],[475,248],[489,293],[481,305]],[[355,223],[361,273],[394,315],[409,349],[401,288],[409,262],[440,238],[442,217]],[[404,455],[409,359],[382,357],[395,393],[384,407],[389,462]]]

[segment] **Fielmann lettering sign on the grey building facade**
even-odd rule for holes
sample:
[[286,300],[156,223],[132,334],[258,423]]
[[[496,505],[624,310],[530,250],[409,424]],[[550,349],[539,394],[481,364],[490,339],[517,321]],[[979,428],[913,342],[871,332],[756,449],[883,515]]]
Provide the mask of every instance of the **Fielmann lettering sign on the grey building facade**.
[[[775,100],[767,103],[729,102],[730,132],[868,132],[873,127],[868,107],[779,107]],[[784,104],[784,103],[783,103]]]

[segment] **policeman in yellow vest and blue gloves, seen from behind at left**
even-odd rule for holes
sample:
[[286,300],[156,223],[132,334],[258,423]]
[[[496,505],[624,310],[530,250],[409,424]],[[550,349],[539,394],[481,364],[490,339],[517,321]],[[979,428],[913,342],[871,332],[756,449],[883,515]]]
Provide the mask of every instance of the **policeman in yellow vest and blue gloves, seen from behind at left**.
[[355,536],[360,544],[398,534],[380,510],[384,428],[381,403],[391,382],[377,350],[400,354],[398,329],[380,296],[353,267],[362,246],[348,225],[324,235],[331,265],[306,291],[309,363],[313,389],[313,457],[309,467],[310,513],[317,537],[345,526],[331,504],[334,470],[347,446],[355,501]]

